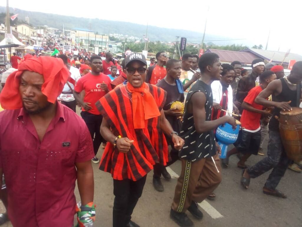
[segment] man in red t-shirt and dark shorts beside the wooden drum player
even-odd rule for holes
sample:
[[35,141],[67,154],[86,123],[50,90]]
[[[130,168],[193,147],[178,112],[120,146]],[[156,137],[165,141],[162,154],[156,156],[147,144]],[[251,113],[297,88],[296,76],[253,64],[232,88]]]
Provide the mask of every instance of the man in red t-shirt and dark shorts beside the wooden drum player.
[[[236,146],[227,153],[225,160],[235,153],[242,153],[243,156],[237,163],[239,168],[246,168],[245,162],[252,154],[257,155],[261,140],[261,118],[271,116],[267,110],[263,110],[263,106],[255,103],[255,98],[265,89],[271,81],[276,79],[276,74],[272,71],[265,71],[260,74],[260,85],[252,88],[242,103],[242,116],[240,118],[242,130]],[[267,121],[268,122],[268,121]]]

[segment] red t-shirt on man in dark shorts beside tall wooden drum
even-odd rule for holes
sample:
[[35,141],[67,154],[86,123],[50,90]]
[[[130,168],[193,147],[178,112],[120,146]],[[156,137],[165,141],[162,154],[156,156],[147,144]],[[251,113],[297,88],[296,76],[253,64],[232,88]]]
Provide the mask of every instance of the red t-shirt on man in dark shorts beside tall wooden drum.
[[[245,99],[244,102],[252,105],[255,109],[263,110],[263,106],[255,103],[255,98],[262,91],[262,87],[256,86],[252,88]],[[261,113],[250,112],[248,110],[243,110],[242,116],[240,118],[241,126],[247,130],[256,130],[260,127]]]

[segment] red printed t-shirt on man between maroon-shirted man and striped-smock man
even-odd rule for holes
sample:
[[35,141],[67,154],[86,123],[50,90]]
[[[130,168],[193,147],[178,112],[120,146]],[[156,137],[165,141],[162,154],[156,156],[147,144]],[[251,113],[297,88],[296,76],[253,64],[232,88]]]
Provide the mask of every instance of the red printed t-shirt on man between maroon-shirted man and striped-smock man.
[[[92,109],[88,111],[89,113],[100,115],[95,103],[106,94],[106,92],[100,88],[103,82],[107,84],[108,89],[111,90],[111,79],[103,73],[98,76],[87,73],[76,83],[76,92],[80,93],[82,90],[85,90],[84,102],[90,103],[89,106],[92,107]],[[82,108],[82,111],[85,110]]]

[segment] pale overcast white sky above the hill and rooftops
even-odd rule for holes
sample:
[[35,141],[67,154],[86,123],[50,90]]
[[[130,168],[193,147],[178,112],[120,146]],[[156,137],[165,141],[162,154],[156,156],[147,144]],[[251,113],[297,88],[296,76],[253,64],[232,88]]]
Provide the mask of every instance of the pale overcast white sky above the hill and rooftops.
[[[175,4],[182,2],[181,4]],[[6,1],[1,0],[5,6]],[[271,30],[268,50],[302,55],[301,1],[83,1],[83,0],[9,0],[9,6],[28,11],[60,15],[128,21],[163,28],[180,28],[206,34],[246,39],[234,43],[262,44],[265,48]],[[120,16],[124,15],[124,16]],[[169,19],[173,18],[173,19]],[[188,38],[189,40],[189,38]],[[219,42],[216,42],[219,44]]]

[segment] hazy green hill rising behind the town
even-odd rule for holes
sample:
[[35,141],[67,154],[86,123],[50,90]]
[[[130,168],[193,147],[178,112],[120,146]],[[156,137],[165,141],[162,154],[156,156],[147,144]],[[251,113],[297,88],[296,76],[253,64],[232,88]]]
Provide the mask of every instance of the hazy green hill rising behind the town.
[[[5,7],[0,6],[0,12],[5,12]],[[29,17],[30,24],[34,26],[47,25],[50,27],[63,29],[63,24],[66,29],[70,28],[85,28],[89,29],[89,19],[83,17],[71,17],[57,14],[41,13],[41,12],[30,12],[21,9],[14,11],[12,8],[10,12],[19,14],[19,20],[25,20],[25,17]],[[143,38],[146,34],[146,26],[138,25],[129,22],[122,21],[108,21],[101,19],[91,19],[91,30],[98,32],[99,34],[117,33],[128,36],[136,36]],[[151,41],[175,41],[175,36],[199,38],[201,40],[202,33],[178,29],[159,28],[155,26],[148,27],[148,37]]]

